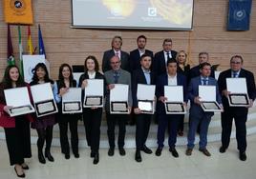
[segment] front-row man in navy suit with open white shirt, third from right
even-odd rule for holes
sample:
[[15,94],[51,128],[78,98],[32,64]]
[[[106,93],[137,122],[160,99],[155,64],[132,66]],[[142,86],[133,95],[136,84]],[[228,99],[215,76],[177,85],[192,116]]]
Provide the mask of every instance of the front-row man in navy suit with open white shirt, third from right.
[[156,95],[158,99],[157,111],[159,113],[159,128],[158,128],[158,149],[156,155],[160,156],[163,148],[165,129],[169,128],[169,151],[174,157],[179,157],[175,144],[177,141],[177,131],[180,120],[182,119],[181,114],[166,114],[164,103],[167,100],[164,97],[164,86],[182,86],[183,87],[183,102],[184,106],[187,103],[187,92],[186,92],[186,78],[181,73],[177,73],[177,62],[175,59],[169,59],[167,61],[167,73],[159,76],[157,81]]

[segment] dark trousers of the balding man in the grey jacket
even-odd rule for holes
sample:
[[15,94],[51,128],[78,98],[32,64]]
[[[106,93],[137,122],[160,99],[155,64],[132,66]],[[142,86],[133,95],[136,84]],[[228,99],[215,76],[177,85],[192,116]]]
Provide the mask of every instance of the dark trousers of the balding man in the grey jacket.
[[125,132],[126,132],[125,123],[127,120],[127,116],[128,116],[127,114],[110,114],[109,112],[106,113],[107,125],[108,125],[109,147],[110,148],[115,148],[115,126],[116,126],[116,123],[119,126],[117,145],[118,145],[118,148],[123,148]]

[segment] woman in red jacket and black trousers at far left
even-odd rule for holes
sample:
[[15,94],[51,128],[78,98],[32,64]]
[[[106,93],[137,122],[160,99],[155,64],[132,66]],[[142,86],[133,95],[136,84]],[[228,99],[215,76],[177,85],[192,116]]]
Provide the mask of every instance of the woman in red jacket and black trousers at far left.
[[26,84],[20,75],[20,71],[16,66],[9,66],[5,70],[3,81],[0,84],[0,126],[5,129],[7,148],[10,156],[11,166],[18,177],[25,177],[23,169],[29,169],[25,163],[25,158],[32,157],[31,149],[31,114],[24,114],[11,117],[8,114],[10,109],[6,105],[4,89],[12,89],[18,87],[30,87]]

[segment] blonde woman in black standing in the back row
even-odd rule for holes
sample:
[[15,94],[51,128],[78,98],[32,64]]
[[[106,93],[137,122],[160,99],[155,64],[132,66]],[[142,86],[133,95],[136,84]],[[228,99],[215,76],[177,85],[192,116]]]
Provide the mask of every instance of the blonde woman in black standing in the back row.
[[[190,66],[186,62],[187,54],[184,50],[180,50],[176,55],[176,61],[178,63],[177,72],[183,74],[186,79],[189,77],[189,70]],[[187,80],[188,83],[188,80]],[[178,128],[178,135],[183,136],[183,129],[184,129],[184,115],[180,121],[179,128]]]

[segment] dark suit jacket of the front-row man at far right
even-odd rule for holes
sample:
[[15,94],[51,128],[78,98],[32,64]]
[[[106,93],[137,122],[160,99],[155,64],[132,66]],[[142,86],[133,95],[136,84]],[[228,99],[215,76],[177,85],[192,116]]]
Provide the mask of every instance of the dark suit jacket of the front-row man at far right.
[[[253,101],[256,98],[256,88],[255,88],[255,80],[254,80],[254,75],[252,72],[248,70],[241,69],[239,73],[239,77],[243,77],[246,79],[246,86],[247,86],[247,93],[250,99]],[[220,93],[222,94],[223,90],[226,89],[226,78],[231,78],[231,70],[224,70],[221,72],[219,79],[218,79],[218,84],[219,84],[219,89]],[[239,84],[238,84],[239,85]],[[228,100],[225,96],[223,96],[223,104],[224,108],[228,108]],[[232,108],[232,107],[231,107]],[[236,109],[247,109],[245,107],[233,107]]]

